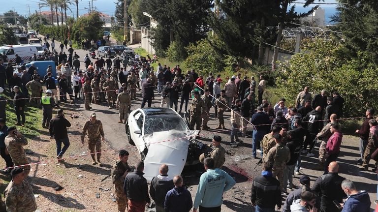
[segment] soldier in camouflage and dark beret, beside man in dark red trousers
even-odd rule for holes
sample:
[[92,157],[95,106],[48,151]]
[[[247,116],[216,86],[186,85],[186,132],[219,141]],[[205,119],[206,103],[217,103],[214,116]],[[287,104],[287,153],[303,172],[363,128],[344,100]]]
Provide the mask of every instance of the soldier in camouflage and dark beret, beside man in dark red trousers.
[[120,150],[118,157],[119,159],[112,167],[111,176],[116,193],[118,212],[125,212],[127,208],[127,198],[124,190],[124,182],[126,175],[131,169],[127,164],[128,152],[126,150]]

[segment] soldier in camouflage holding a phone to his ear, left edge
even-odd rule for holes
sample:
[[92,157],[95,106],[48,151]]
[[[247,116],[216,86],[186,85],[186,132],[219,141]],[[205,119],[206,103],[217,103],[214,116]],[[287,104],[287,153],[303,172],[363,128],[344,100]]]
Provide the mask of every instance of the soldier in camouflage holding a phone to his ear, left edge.
[[[5,146],[15,166],[29,164],[25,150],[22,146],[28,145],[28,140],[17,130],[15,126],[8,128],[8,135],[5,137]],[[29,175],[30,166],[23,166],[26,176]]]

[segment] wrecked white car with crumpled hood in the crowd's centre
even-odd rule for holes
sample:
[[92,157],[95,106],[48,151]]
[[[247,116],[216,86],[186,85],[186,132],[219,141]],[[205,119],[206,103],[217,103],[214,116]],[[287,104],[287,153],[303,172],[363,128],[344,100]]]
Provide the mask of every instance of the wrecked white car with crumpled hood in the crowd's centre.
[[148,182],[158,175],[163,163],[169,176],[180,175],[186,165],[199,163],[203,143],[194,138],[198,130],[189,130],[184,119],[171,108],[138,108],[126,121],[128,142],[135,145],[144,161]]

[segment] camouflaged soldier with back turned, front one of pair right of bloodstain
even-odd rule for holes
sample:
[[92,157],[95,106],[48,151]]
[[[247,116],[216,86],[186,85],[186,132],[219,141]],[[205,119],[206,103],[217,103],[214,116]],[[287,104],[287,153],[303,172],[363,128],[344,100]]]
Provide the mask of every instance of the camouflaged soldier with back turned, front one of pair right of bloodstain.
[[290,150],[288,147],[282,145],[282,136],[280,133],[274,135],[276,146],[272,147],[265,158],[263,163],[273,163],[273,177],[280,181],[280,187],[282,191],[284,189],[284,170],[286,169],[286,163],[290,160]]

